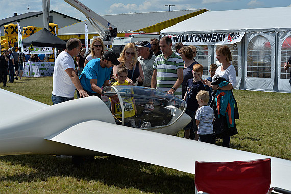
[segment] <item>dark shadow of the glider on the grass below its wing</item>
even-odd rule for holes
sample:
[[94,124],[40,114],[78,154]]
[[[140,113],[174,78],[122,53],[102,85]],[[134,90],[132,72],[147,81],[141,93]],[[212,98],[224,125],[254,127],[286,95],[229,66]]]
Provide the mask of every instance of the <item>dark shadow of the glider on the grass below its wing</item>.
[[52,155],[1,156],[0,160],[35,169],[35,172],[0,176],[1,182],[47,181],[52,176],[68,176],[99,181],[107,186],[136,188],[141,192],[193,193],[195,190],[192,174],[117,156],[97,157],[79,167],[74,167],[70,158]]

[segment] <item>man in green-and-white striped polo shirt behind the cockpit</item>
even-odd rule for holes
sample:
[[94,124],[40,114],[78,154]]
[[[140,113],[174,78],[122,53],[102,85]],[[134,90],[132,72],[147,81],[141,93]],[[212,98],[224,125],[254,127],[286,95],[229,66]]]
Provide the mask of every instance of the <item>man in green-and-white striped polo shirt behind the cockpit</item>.
[[157,88],[182,98],[182,58],[172,51],[172,40],[165,36],[160,40],[163,54],[156,57],[152,76],[152,88]]

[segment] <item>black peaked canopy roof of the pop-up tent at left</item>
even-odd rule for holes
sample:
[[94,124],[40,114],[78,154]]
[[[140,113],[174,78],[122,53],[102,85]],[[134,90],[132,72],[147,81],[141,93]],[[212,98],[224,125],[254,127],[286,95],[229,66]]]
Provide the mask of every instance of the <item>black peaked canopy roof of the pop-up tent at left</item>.
[[53,35],[50,31],[46,30],[46,28],[43,28],[33,35],[23,39],[23,46],[30,46],[31,44],[38,47],[66,47],[65,41]]

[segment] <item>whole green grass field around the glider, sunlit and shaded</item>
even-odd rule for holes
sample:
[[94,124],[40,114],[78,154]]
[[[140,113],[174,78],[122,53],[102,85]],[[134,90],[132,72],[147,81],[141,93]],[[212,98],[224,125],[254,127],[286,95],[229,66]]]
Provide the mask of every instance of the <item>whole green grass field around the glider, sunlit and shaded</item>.
[[[52,105],[52,77],[7,85],[0,88]],[[230,147],[291,160],[291,94],[234,90],[234,95],[240,119]],[[116,156],[96,157],[78,168],[69,158],[52,155],[1,156],[0,181],[1,193],[193,193],[195,188],[192,174]]]

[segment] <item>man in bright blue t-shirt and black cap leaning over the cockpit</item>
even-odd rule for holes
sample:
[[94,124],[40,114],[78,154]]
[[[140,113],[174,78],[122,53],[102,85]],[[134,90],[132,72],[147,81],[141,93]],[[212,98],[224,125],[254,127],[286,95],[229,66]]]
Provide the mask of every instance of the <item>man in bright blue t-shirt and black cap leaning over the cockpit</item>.
[[88,95],[101,98],[101,87],[109,85],[108,81],[113,65],[119,65],[114,51],[106,51],[101,58],[92,59],[87,63],[79,79]]

